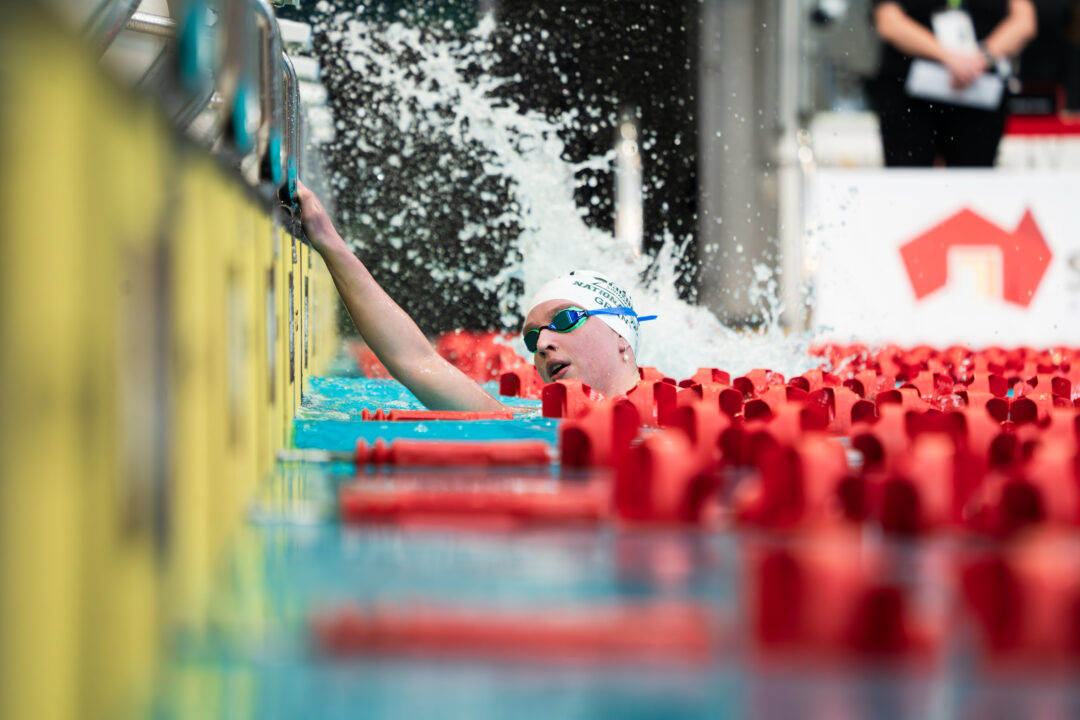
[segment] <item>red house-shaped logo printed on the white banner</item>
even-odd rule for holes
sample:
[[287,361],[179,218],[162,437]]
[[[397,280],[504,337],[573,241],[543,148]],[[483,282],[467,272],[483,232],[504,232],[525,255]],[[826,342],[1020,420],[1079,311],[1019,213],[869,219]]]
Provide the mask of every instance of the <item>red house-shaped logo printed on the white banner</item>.
[[1016,229],[1007,232],[964,208],[900,248],[916,299],[946,285],[949,250],[963,247],[998,248],[1001,298],[1024,308],[1035,297],[1053,257],[1031,210],[1025,210]]

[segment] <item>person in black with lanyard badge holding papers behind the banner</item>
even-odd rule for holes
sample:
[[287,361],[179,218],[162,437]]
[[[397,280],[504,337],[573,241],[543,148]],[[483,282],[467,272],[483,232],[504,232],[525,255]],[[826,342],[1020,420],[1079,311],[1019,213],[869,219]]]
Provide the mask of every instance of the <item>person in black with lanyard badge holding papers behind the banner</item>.
[[[941,42],[931,28],[943,11],[970,17],[976,49],[957,51]],[[993,166],[1004,132],[1004,97],[981,109],[913,97],[905,83],[914,58],[943,65],[956,90],[997,71],[1000,60],[1018,55],[1036,35],[1031,0],[874,0],[873,22],[882,49],[869,96],[886,165]]]

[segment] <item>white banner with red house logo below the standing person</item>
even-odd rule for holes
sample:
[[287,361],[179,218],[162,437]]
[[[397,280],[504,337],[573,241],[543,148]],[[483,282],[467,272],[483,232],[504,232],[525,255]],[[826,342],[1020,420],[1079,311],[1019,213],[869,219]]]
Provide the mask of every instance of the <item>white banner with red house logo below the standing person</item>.
[[1080,345],[1080,172],[820,169],[806,231],[823,339]]

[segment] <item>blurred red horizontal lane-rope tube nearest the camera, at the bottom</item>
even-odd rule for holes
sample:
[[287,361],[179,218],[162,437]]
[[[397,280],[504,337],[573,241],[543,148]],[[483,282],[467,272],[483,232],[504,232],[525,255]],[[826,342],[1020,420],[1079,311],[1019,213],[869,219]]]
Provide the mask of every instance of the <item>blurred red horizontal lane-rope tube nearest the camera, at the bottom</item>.
[[717,631],[692,604],[508,611],[343,608],[311,620],[322,652],[526,663],[707,663]]

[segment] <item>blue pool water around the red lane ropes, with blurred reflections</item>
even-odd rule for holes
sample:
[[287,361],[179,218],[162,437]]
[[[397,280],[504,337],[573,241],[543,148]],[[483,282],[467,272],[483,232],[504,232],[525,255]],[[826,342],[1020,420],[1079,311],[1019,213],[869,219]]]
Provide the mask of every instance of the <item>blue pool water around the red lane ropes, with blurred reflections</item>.
[[[515,398],[516,402],[516,398]],[[532,403],[532,405],[537,405]],[[543,438],[557,421],[389,423],[364,408],[417,408],[393,381],[313,379],[295,423],[300,448],[348,450],[359,437]],[[770,666],[746,651],[743,532],[524,532],[343,526],[337,491],[408,473],[282,462],[261,484],[220,569],[207,627],[177,638],[159,716],[300,718],[1077,717],[1067,679],[981,679],[970,638],[933,667]],[[521,473],[494,474],[513,483]],[[552,481],[555,481],[554,479]],[[940,543],[897,543],[897,567],[940,563]],[[345,603],[427,603],[491,612],[692,601],[726,628],[705,666],[561,666],[483,660],[322,656],[308,619]],[[194,690],[192,690],[194,689]],[[194,708],[194,709],[192,709]]]

